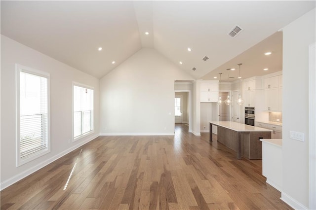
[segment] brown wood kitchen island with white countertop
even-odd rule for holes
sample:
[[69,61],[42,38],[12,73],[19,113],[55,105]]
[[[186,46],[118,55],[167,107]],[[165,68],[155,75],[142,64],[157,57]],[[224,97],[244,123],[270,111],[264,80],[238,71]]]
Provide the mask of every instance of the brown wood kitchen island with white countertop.
[[217,141],[248,159],[262,159],[261,139],[271,139],[272,130],[231,121],[209,122],[209,141],[213,141],[212,125],[217,126]]

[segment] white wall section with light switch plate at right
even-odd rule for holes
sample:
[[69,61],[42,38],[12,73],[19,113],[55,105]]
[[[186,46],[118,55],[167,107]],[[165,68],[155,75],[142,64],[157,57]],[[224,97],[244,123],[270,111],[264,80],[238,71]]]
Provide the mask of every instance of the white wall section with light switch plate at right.
[[[308,53],[316,41],[315,11],[283,28],[282,199],[296,209],[309,205]],[[305,141],[290,139],[289,131],[304,133]]]

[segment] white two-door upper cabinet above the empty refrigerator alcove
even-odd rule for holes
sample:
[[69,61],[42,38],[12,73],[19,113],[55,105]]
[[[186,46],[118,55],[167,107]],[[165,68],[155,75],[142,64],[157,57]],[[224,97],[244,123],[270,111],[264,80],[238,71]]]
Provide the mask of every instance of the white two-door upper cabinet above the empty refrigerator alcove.
[[200,102],[218,101],[218,80],[202,81],[200,84]]

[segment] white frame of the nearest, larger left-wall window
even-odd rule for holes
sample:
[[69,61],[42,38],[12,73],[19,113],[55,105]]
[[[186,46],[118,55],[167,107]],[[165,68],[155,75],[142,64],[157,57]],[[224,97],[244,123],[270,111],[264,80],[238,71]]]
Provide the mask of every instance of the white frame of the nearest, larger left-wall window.
[[[26,158],[21,158],[20,152],[20,72],[25,72],[47,78],[47,148],[37,151],[35,154]],[[16,78],[16,167],[22,166],[50,152],[50,74],[45,71],[36,70],[30,67],[15,64]]]

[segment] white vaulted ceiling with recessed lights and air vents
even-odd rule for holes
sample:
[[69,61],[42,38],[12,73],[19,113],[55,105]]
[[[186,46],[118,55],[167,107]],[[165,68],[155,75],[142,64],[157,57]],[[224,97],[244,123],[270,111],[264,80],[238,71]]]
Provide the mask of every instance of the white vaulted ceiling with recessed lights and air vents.
[[[281,58],[281,36],[274,34],[314,7],[315,1],[302,0],[2,0],[1,34],[98,78],[142,47],[155,48],[195,78],[212,79],[220,70],[237,69],[237,63],[243,63],[246,78],[257,70],[255,75],[263,73],[267,57],[259,50],[273,51],[270,58],[275,60]],[[231,38],[227,34],[236,25],[243,31]],[[262,40],[263,45],[254,46]],[[271,48],[263,47],[269,44]],[[100,46],[102,51],[97,50]],[[247,49],[259,57],[243,53]],[[204,56],[209,60],[202,61]],[[269,65],[271,71],[264,73],[281,70],[274,59]]]

